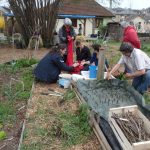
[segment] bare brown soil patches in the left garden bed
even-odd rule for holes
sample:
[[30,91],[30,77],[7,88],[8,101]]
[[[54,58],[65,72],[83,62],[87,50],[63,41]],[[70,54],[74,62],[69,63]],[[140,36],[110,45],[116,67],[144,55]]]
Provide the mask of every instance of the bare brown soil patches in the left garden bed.
[[[2,72],[0,72],[0,103],[9,103],[3,91],[4,86],[6,84],[9,84],[9,81],[10,74],[3,74]],[[2,124],[2,130],[6,132],[6,139],[0,141],[0,150],[16,150],[18,148],[19,139],[22,132],[22,125],[25,119],[27,101],[17,100],[12,102],[11,105],[13,105],[15,115],[11,116],[13,118],[13,121],[6,121],[4,122],[4,124]]]

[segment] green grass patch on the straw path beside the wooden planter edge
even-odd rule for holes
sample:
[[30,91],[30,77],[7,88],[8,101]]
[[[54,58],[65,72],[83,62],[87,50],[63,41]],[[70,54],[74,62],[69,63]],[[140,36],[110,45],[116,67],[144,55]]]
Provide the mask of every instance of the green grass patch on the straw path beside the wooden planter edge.
[[88,106],[81,105],[76,114],[59,114],[52,133],[54,136],[60,137],[65,146],[84,143],[91,134],[88,123]]

